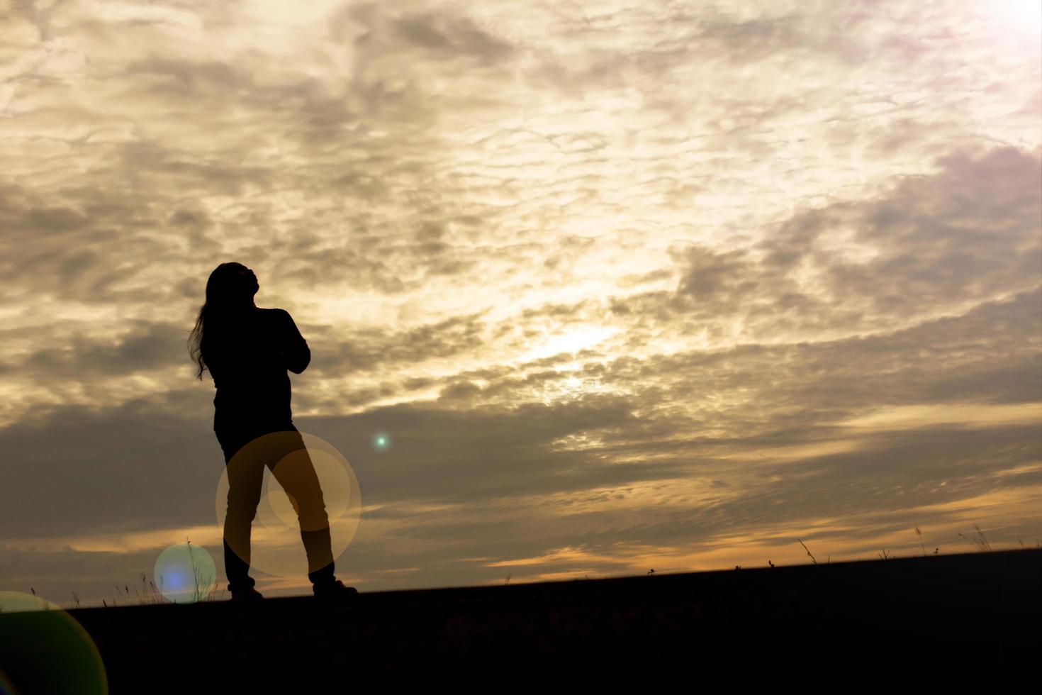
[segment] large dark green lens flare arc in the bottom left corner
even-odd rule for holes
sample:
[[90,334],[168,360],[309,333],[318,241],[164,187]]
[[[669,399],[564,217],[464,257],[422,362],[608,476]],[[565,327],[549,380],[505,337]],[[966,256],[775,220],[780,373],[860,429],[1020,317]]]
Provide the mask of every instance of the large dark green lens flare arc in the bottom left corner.
[[108,692],[105,665],[75,618],[39,596],[0,591],[0,692]]

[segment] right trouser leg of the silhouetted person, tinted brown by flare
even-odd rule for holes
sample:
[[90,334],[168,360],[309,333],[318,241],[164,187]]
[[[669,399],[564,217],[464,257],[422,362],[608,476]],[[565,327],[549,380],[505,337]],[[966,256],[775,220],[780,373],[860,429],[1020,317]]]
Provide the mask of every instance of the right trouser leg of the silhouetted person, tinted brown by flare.
[[[325,510],[322,487],[315,466],[307,454],[303,438],[296,427],[288,438],[288,453],[272,462],[272,473],[289,496],[300,522],[300,539],[307,554],[307,578],[312,584],[334,580],[332,539],[329,535],[329,517]],[[277,463],[277,466],[275,464]]]

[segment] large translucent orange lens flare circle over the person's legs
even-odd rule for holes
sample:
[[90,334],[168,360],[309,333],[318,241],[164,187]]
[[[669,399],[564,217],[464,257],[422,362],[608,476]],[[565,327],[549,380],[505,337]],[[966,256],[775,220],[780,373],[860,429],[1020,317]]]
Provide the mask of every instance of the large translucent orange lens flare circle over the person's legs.
[[324,551],[308,559],[304,536],[313,550],[328,542],[336,561],[362,516],[358,479],[344,454],[293,430],[260,435],[243,446],[221,473],[216,503],[228,547],[254,576],[306,574],[328,563]]

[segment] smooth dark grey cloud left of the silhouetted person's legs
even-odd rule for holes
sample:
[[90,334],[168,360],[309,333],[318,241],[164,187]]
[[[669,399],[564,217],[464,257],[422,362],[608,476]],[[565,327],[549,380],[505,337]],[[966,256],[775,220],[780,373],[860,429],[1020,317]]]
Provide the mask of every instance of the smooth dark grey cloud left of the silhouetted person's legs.
[[205,491],[216,491],[223,458],[208,419],[188,417],[176,402],[71,405],[26,414],[0,430],[4,537],[138,531],[207,520],[215,493]]

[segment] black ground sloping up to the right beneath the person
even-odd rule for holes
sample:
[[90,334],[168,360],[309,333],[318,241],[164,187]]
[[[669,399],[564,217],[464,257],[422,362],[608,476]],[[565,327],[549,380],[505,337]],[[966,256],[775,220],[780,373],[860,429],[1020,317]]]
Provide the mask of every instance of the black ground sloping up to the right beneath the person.
[[[69,613],[117,694],[397,692],[406,682],[998,692],[1038,680],[1040,599],[1042,550],[1033,548]],[[0,629],[11,618],[0,615]]]

